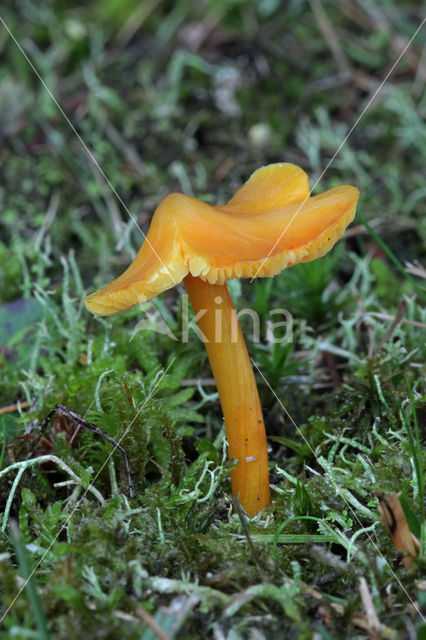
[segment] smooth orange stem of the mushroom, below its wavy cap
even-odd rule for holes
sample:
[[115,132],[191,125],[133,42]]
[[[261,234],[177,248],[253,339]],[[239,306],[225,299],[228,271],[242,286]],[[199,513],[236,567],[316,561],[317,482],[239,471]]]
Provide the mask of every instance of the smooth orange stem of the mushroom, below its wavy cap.
[[256,381],[226,284],[184,279],[216,380],[225,418],[232,494],[249,516],[269,504],[268,451]]

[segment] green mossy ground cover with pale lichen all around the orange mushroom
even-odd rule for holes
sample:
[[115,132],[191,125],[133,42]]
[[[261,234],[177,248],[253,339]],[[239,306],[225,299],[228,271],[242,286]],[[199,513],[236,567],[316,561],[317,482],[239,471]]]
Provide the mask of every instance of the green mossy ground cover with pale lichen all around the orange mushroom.
[[[339,76],[311,9],[150,6],[141,17],[130,1],[28,2],[25,13],[6,4],[2,14],[142,228],[169,191],[225,201],[268,162],[297,162],[314,184],[367,89]],[[415,28],[409,5],[325,8],[349,65],[367,80],[380,79],[399,54],[397,34]],[[192,50],[194,32],[183,31],[191,25],[211,29]],[[251,354],[298,425],[259,379],[273,503],[243,526],[232,512],[202,345],[195,336],[183,344],[135,332],[139,311],[110,320],[83,311],[84,291],[118,274],[141,236],[3,31],[0,47],[0,95],[11,103],[0,110],[0,399],[31,405],[3,417],[3,470],[11,456],[31,454],[33,438],[22,437],[30,420],[62,402],[113,437],[135,420],[123,446],[137,487],[136,498],[126,497],[119,453],[101,470],[109,443],[86,432],[70,442],[60,421],[47,434],[52,449],[43,442],[33,455],[57,456],[78,482],[31,459],[19,485],[16,470],[1,477],[1,503],[12,495],[8,513],[25,545],[2,532],[2,611],[45,554],[2,637],[43,637],[36,621],[45,617],[57,638],[147,640],[154,635],[141,607],[169,637],[367,637],[353,623],[360,576],[383,637],[424,633],[409,606],[409,597],[425,606],[424,555],[410,572],[396,562],[374,492],[402,492],[410,526],[424,538],[425,280],[413,276],[415,290],[359,229],[321,262],[233,287],[238,308],[250,302],[260,315],[262,341],[248,339]],[[424,105],[414,71],[401,63],[319,185],[357,184],[361,214],[403,266],[425,257]],[[177,291],[158,305],[178,335]],[[276,307],[293,315],[294,342],[282,347],[266,339]],[[105,506],[90,492],[78,504],[95,477]]]

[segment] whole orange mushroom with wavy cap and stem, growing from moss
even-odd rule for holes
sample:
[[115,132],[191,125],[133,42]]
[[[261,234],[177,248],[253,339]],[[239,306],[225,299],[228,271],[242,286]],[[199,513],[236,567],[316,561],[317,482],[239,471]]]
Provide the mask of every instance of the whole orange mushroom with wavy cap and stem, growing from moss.
[[250,358],[226,280],[270,277],[323,256],[353,220],[358,190],[340,186],[310,197],[293,164],[255,171],[226,205],[180,193],[157,207],[128,269],[85,299],[107,316],[185,283],[203,334],[236,462],[232,493],[249,516],[269,504],[266,433]]

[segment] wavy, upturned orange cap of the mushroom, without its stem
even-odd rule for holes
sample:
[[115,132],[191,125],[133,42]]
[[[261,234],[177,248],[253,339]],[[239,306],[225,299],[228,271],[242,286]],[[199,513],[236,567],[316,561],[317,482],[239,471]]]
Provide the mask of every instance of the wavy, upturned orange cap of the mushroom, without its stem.
[[107,316],[146,302],[191,273],[211,284],[270,277],[323,256],[355,215],[359,192],[348,185],[310,197],[293,164],[262,167],[225,204],[181,193],[157,207],[142,247],[126,271],[85,298]]

